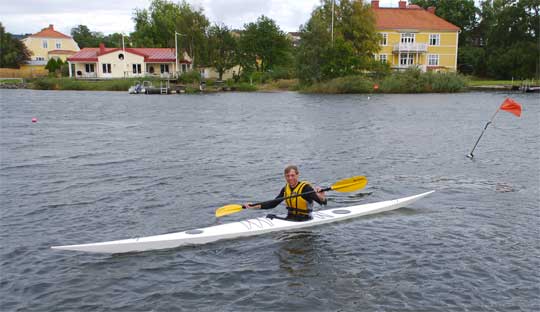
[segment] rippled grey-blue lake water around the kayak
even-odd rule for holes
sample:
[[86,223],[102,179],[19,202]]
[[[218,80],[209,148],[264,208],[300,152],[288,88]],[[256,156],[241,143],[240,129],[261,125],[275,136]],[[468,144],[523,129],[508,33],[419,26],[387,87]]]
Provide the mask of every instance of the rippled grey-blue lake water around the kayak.
[[[2,311],[538,311],[540,98],[0,90]],[[31,119],[37,118],[36,123]],[[178,232],[271,199],[297,164],[329,208],[436,193],[309,230],[124,255],[52,245]],[[279,206],[272,212],[285,211]]]

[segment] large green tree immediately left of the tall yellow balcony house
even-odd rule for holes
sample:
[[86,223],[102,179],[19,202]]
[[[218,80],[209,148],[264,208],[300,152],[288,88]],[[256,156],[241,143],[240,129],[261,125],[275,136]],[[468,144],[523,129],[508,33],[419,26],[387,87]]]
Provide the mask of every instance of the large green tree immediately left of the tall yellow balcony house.
[[297,51],[297,73],[304,83],[359,73],[373,67],[372,57],[379,50],[375,17],[361,1],[342,0],[334,9],[325,0],[301,28]]

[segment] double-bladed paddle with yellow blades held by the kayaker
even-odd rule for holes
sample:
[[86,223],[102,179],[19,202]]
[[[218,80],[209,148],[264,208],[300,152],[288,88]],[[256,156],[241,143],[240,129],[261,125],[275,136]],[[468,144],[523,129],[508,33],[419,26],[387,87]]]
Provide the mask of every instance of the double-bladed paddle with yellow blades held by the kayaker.
[[[336,192],[341,192],[341,193],[354,192],[354,191],[357,191],[357,190],[359,190],[361,188],[364,188],[366,186],[366,184],[367,184],[366,177],[364,177],[364,176],[355,176],[355,177],[350,177],[350,178],[346,178],[346,179],[343,179],[343,180],[339,180],[336,183],[334,183],[332,186],[322,189],[321,192],[326,192],[326,191],[330,191],[330,190],[336,191]],[[294,197],[298,197],[298,196],[302,196],[302,195],[306,195],[306,194],[311,194],[311,193],[316,193],[316,192],[317,191],[313,190],[313,191],[310,191],[310,192],[305,192],[305,193],[301,193],[301,194],[295,194],[295,195],[292,195],[292,196],[275,198],[275,199],[272,199],[272,200],[255,203],[255,204],[253,204],[253,206],[263,205],[263,204],[266,204],[268,202],[273,202],[273,201],[276,201],[276,200],[282,201],[282,200],[285,200],[285,199],[294,198]],[[223,217],[223,216],[230,215],[230,214],[233,214],[233,213],[237,213],[237,212],[242,211],[245,208],[246,207],[244,207],[243,205],[238,205],[238,204],[226,205],[226,206],[223,206],[223,207],[218,208],[216,210],[216,217],[219,218],[219,217]]]

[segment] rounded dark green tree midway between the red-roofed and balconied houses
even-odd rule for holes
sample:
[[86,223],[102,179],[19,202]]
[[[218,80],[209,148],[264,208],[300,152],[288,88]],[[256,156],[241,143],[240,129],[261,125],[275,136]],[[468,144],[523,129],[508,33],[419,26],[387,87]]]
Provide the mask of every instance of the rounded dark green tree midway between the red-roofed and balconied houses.
[[292,49],[287,35],[264,15],[255,23],[244,25],[239,46],[241,63],[260,72],[287,64]]

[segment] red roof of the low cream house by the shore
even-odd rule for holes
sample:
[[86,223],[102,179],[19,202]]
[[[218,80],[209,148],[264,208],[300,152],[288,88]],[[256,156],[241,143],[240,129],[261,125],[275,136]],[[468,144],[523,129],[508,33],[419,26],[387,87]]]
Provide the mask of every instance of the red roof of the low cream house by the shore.
[[[69,57],[68,60],[73,62],[97,62],[98,56],[119,50],[122,49],[104,47],[103,53],[100,53],[100,48],[84,48],[75,55]],[[172,48],[126,48],[125,50],[126,52],[144,57],[146,63],[174,62],[176,60],[174,49]],[[182,63],[185,63],[185,61],[182,61]]]

